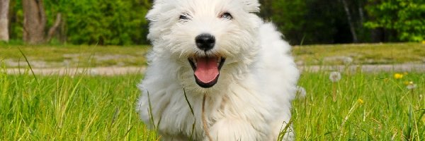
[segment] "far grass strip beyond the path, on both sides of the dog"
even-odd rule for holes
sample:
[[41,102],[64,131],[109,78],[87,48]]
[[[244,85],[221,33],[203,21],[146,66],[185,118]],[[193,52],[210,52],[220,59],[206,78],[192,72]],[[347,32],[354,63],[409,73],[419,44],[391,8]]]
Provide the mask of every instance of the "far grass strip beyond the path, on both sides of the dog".
[[[75,46],[75,45],[19,45],[0,44],[0,59],[8,67],[25,65],[20,47],[35,68],[142,66],[149,46]],[[424,63],[425,44],[336,44],[296,46],[295,60],[302,65],[340,65],[346,57],[356,64]],[[87,61],[90,60],[90,61]],[[20,62],[21,64],[19,64]]]

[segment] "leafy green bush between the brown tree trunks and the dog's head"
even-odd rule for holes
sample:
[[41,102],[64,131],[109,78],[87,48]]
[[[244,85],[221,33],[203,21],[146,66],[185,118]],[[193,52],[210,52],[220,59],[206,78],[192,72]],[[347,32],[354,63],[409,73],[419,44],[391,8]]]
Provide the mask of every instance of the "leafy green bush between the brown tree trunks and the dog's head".
[[62,1],[67,41],[72,44],[147,43],[148,0]]

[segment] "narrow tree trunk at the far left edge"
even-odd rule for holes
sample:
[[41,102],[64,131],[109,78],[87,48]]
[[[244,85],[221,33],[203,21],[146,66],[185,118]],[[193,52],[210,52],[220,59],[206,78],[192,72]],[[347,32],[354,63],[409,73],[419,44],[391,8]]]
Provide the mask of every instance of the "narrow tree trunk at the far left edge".
[[0,41],[8,42],[8,8],[9,0],[0,0]]

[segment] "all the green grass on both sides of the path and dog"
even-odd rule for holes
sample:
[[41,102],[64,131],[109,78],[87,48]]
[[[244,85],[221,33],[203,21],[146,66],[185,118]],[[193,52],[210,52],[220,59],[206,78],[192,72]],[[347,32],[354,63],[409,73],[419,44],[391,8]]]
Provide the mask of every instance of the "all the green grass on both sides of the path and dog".
[[[145,66],[149,47],[0,45],[0,140],[158,140],[135,112],[141,74],[6,74],[28,68],[19,49],[33,68],[86,68]],[[293,54],[300,66],[424,63],[425,44],[297,46]],[[425,140],[425,73],[346,69],[339,82],[329,73],[301,75],[307,95],[293,101],[297,140]]]

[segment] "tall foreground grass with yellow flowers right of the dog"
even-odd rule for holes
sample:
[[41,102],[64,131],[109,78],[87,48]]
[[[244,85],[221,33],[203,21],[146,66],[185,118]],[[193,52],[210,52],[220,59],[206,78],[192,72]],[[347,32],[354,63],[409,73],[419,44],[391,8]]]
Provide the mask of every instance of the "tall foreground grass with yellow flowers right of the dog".
[[[425,74],[302,73],[305,99],[293,102],[297,140],[424,140]],[[404,84],[415,82],[414,94]],[[336,84],[336,100],[332,85]]]

